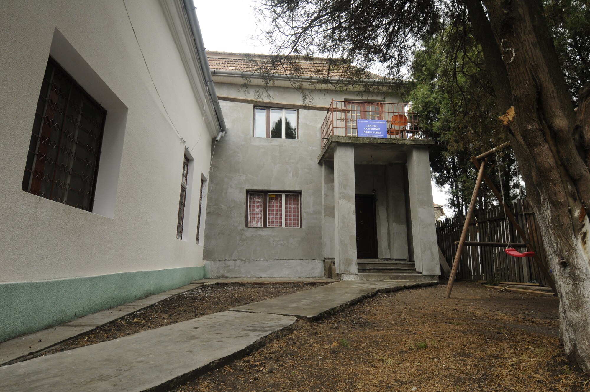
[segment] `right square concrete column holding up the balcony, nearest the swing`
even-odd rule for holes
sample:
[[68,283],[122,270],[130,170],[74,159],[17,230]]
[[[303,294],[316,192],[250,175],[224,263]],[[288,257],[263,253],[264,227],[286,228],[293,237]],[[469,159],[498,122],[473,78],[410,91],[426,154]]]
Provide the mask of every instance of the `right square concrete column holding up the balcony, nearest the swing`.
[[416,270],[422,275],[440,274],[437,232],[432,207],[432,187],[427,147],[412,147],[408,158],[409,212]]

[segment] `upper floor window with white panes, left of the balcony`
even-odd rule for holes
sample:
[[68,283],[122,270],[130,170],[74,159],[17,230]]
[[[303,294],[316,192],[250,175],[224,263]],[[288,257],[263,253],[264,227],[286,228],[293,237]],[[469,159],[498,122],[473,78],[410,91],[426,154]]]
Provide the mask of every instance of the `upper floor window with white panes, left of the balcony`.
[[297,110],[255,107],[254,136],[257,138],[297,139]]

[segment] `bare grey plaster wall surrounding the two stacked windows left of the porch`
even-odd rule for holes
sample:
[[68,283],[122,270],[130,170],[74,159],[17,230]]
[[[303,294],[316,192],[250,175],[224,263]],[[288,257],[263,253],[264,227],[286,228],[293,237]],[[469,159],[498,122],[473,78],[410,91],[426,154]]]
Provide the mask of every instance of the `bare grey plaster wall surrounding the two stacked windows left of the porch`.
[[[253,96],[237,84],[215,87],[220,95]],[[294,89],[270,92],[279,102],[301,102]],[[212,277],[323,276],[322,166],[316,159],[326,113],[299,110],[298,139],[267,139],[253,136],[252,104],[222,101],[221,106],[229,130],[215,145],[209,179],[204,241],[209,273]],[[247,190],[301,191],[301,227],[246,227]]]

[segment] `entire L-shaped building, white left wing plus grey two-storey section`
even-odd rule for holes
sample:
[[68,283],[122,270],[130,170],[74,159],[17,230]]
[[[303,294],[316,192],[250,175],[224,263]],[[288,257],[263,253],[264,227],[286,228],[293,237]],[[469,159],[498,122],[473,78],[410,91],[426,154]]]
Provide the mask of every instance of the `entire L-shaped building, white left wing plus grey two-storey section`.
[[191,0],[0,23],[0,342],[204,276],[436,279],[432,142],[391,86],[268,83]]

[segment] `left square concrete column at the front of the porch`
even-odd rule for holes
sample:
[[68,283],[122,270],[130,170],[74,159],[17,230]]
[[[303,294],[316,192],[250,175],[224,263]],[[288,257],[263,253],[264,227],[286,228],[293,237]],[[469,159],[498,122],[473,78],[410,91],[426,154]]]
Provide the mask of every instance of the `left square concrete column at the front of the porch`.
[[338,144],[334,151],[334,250],[336,273],[342,279],[355,279],[356,195],[355,148]]

